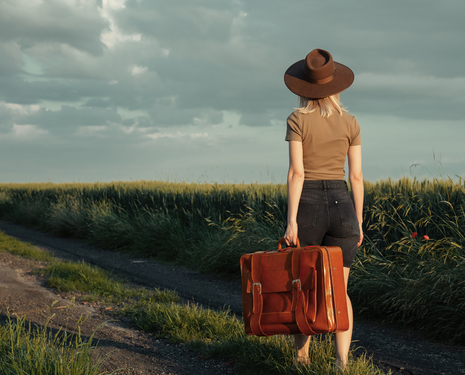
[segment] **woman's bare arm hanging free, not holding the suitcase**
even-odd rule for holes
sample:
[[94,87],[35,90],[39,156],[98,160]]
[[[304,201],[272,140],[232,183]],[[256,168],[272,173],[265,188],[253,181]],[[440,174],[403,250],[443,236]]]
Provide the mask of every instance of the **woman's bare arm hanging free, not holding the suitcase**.
[[355,213],[359,220],[360,239],[357,246],[362,244],[362,210],[363,210],[363,176],[362,176],[362,146],[349,146],[347,151],[349,161],[349,181],[354,198]]

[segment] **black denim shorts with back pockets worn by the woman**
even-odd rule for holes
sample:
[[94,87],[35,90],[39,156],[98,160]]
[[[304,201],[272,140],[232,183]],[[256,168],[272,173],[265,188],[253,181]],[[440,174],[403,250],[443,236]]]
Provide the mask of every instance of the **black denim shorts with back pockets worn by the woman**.
[[344,267],[354,261],[360,228],[344,180],[305,180],[297,211],[301,246],[339,246]]

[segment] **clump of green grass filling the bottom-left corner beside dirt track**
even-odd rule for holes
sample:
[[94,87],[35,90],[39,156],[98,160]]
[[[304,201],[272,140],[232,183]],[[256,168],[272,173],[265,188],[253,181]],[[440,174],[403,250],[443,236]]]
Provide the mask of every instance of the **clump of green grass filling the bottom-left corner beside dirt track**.
[[[53,306],[53,305],[52,305]],[[68,309],[71,307],[68,306]],[[48,307],[47,307],[48,309]],[[6,313],[0,325],[0,369],[2,375],[97,375],[106,355],[93,360],[93,334],[88,340],[66,330],[53,334],[48,309],[44,326],[32,328],[26,317],[13,319]],[[68,315],[69,317],[69,315]],[[78,327],[84,322],[80,319]]]

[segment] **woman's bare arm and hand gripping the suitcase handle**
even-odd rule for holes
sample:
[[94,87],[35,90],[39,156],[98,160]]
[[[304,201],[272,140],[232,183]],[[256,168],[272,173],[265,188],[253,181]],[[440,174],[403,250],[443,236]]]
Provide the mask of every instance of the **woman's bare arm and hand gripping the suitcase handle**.
[[287,173],[287,246],[297,244],[297,209],[304,184],[302,142],[289,141],[289,172]]

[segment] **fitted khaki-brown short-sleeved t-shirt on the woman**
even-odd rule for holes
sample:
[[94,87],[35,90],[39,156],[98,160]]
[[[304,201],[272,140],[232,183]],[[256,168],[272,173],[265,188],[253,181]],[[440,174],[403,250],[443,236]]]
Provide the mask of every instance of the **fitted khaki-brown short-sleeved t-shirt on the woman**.
[[302,142],[305,180],[343,180],[349,146],[362,144],[355,116],[342,112],[322,117],[292,112],[287,118],[286,141]]

